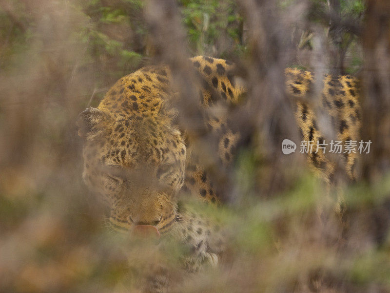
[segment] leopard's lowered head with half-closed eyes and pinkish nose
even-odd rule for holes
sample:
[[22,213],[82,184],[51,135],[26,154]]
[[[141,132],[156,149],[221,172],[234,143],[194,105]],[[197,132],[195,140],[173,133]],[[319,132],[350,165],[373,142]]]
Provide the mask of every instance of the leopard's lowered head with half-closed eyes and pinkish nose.
[[144,116],[116,115],[104,107],[80,113],[83,180],[109,205],[115,230],[147,225],[164,233],[175,222],[186,147],[169,119],[156,123]]

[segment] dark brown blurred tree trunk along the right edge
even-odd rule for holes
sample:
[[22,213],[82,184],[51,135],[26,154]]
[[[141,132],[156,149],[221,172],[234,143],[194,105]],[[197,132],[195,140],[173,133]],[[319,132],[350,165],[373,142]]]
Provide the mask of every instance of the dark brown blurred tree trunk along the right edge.
[[363,32],[362,140],[371,141],[362,155],[362,176],[373,181],[390,167],[390,3],[369,0]]

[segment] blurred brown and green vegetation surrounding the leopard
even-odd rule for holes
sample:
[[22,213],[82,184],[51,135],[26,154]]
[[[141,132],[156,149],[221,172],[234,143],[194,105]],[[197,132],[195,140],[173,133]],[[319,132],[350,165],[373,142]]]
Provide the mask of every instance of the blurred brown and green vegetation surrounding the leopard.
[[[153,257],[104,227],[75,121],[121,76],[196,55],[237,63],[255,112],[230,200],[195,204],[228,227],[221,265],[172,292],[390,292],[388,0],[0,0],[0,292],[138,292]],[[282,154],[289,66],[359,78],[357,183],[329,191]]]

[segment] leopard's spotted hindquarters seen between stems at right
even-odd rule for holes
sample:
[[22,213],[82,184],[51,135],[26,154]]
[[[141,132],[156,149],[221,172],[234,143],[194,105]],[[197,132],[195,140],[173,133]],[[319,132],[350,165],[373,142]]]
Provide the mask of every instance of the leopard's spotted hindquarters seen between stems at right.
[[[310,97],[314,79],[308,71],[297,69],[286,69],[287,91],[295,97],[305,97],[315,102],[310,106],[308,103],[298,100],[296,102],[295,117],[299,128],[302,131],[304,141],[312,141],[314,147],[308,153],[308,160],[314,170],[324,175],[324,178],[332,183],[335,174],[335,162],[324,154],[322,149],[316,152],[316,144],[325,143],[327,150],[330,150],[331,138],[325,139],[318,122],[313,107],[325,112],[325,117],[330,120],[330,125],[335,132],[334,140],[342,142],[345,146],[348,141],[357,141],[361,127],[360,105],[357,99],[358,83],[350,76],[334,77],[326,75],[323,79],[323,89],[320,99]],[[309,96],[309,97],[308,97]],[[315,103],[319,103],[316,105]],[[356,152],[345,152],[343,147],[342,154],[344,158],[345,171],[352,179],[356,179],[355,164],[357,160]]]

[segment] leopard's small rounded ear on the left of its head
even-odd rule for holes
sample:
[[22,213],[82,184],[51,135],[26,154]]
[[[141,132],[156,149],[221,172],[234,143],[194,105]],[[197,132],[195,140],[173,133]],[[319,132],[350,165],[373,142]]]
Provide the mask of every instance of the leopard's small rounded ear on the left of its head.
[[78,115],[76,125],[78,135],[85,138],[98,124],[107,118],[107,114],[98,108],[88,107]]

